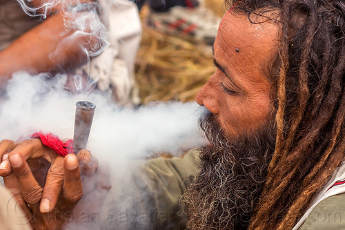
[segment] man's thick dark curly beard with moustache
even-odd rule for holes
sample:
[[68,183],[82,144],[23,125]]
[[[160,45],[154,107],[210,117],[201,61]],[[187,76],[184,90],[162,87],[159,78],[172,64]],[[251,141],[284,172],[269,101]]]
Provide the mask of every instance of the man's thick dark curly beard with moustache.
[[275,126],[226,138],[213,115],[200,120],[210,146],[199,151],[199,173],[183,195],[189,229],[247,229],[275,149]]

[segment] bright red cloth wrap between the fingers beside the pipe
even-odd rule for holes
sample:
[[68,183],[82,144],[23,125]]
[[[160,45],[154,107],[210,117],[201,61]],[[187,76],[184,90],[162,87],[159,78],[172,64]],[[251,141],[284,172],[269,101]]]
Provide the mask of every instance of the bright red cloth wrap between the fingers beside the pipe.
[[31,138],[39,138],[41,139],[42,144],[48,146],[54,150],[57,154],[65,157],[69,153],[73,152],[73,140],[68,140],[67,142],[63,143],[57,135],[52,133],[43,134],[41,132],[37,132],[32,134]]

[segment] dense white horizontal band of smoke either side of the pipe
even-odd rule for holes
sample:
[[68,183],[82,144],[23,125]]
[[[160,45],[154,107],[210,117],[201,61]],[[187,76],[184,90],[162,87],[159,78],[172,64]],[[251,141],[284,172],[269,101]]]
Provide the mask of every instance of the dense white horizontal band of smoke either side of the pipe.
[[8,98],[0,105],[0,139],[17,140],[36,131],[72,138],[75,103],[87,100],[97,106],[88,149],[99,158],[178,153],[204,144],[197,126],[202,112],[195,103],[157,102],[134,110],[117,106],[110,94],[72,95],[63,89],[65,81],[63,75],[47,79],[45,74],[14,74]]

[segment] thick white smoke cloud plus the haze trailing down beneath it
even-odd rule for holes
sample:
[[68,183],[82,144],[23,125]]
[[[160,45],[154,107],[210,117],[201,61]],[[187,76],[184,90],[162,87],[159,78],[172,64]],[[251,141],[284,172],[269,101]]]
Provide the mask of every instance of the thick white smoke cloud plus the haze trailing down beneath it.
[[[162,151],[180,156],[182,151],[205,144],[197,125],[204,111],[200,111],[198,108],[201,106],[194,102],[157,102],[137,109],[124,108],[112,102],[110,94],[72,95],[64,90],[65,82],[66,76],[63,75],[48,78],[43,73],[37,76],[14,74],[6,88],[7,97],[0,102],[0,138],[17,140],[42,131],[70,139],[73,136],[75,103],[80,100],[93,102],[96,110],[88,149],[99,160],[99,168],[106,171],[105,177],[110,173],[110,166],[112,189],[107,194],[101,186],[97,186],[99,179],[88,179],[88,184],[83,186],[95,186],[95,189],[92,196],[86,195],[81,203],[92,206],[79,206],[76,213],[101,216],[106,215],[102,212],[117,209],[139,210],[133,204],[132,198],[137,198],[138,193],[133,188],[142,188],[139,193],[145,198],[148,185],[141,180],[134,181],[133,175],[136,169],[144,166],[146,157]],[[95,201],[99,207],[93,205]],[[103,202],[104,206],[101,206]],[[145,204],[140,210],[149,209],[148,206]],[[132,224],[136,220],[127,221],[119,223]],[[111,226],[117,223],[106,224],[112,229]],[[104,223],[77,216],[77,220],[70,224],[70,229],[98,229]],[[131,227],[117,229],[128,228]]]

